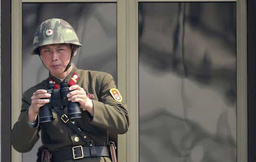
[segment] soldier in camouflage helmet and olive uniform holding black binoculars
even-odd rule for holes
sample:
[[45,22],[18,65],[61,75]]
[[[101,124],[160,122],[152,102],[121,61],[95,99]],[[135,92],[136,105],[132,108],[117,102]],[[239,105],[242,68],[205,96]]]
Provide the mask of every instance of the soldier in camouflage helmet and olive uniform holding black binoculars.
[[[111,162],[108,132],[127,132],[127,106],[110,74],[80,70],[72,64],[80,46],[74,29],[64,20],[46,20],[36,30],[33,54],[40,57],[49,77],[22,96],[20,116],[11,132],[12,146],[18,152],[29,152],[41,130],[42,144],[49,149],[52,162]],[[67,100],[79,103],[81,118],[71,119],[63,106],[63,110],[52,108],[53,120],[45,121],[41,110],[52,102],[53,95],[46,91],[48,85],[53,83],[58,90],[63,82],[69,83]]]

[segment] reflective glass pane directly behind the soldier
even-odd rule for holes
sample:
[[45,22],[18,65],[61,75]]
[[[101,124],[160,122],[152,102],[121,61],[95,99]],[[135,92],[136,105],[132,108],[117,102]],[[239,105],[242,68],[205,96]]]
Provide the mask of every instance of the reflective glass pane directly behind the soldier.
[[[73,59],[78,68],[110,73],[117,83],[116,8],[116,3],[23,3],[22,92],[48,77],[40,58],[29,53],[36,28],[50,18],[62,18],[75,29],[83,45]],[[110,139],[117,141],[117,135]],[[22,154],[23,162],[35,162],[41,145],[39,139],[32,151]]]

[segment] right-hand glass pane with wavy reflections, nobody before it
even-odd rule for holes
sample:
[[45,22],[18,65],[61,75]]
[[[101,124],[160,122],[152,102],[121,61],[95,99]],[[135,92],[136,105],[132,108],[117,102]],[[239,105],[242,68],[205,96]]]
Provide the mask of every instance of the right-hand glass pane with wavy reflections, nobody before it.
[[140,162],[236,162],[236,3],[139,3]]

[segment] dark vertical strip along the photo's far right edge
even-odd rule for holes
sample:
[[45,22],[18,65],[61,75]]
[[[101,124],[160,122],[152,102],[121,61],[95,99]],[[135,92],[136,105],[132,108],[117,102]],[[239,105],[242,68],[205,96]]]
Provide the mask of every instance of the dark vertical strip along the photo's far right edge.
[[256,161],[256,1],[255,0],[247,0],[247,42],[248,42],[248,162]]

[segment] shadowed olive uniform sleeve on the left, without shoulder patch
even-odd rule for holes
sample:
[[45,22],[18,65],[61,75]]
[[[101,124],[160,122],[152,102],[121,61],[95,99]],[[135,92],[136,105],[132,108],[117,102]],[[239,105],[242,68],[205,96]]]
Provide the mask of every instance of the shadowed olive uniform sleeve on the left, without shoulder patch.
[[[28,125],[28,108],[30,104],[22,97],[22,106],[18,121],[14,124],[11,132],[11,143],[18,152],[29,152],[39,139],[40,127],[32,128]],[[38,116],[37,116],[38,122]]]

